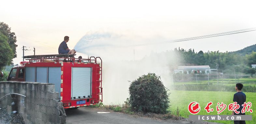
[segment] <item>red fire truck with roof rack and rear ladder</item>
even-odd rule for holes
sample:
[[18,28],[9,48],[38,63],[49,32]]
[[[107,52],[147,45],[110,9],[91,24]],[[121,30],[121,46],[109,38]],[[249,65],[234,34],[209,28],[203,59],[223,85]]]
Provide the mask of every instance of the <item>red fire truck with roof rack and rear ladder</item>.
[[[74,55],[24,56],[27,62],[11,69],[7,81],[55,84],[64,108],[78,108],[102,102],[102,60]],[[97,63],[99,62],[99,63]]]

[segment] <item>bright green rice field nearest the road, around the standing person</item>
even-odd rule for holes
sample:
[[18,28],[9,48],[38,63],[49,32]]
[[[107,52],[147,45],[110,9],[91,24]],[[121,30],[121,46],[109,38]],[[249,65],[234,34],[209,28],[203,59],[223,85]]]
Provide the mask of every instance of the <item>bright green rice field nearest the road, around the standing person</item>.
[[[201,110],[197,115],[217,115],[216,105],[217,103],[223,102],[226,105],[233,103],[233,95],[235,92],[212,92],[212,91],[171,91],[170,99],[170,107],[169,111],[171,111],[172,115],[181,116],[183,118],[188,118],[189,115],[192,115],[188,111],[188,105],[191,102],[198,102],[201,106]],[[251,109],[256,110],[256,93],[245,93],[246,101],[252,103]],[[214,109],[213,112],[207,113],[204,110],[207,103],[213,102],[211,108]],[[178,108],[178,112],[177,112]],[[231,115],[231,111],[228,111],[228,107],[220,113],[220,115]],[[247,124],[256,124],[256,113],[246,112],[246,115],[252,115],[251,121],[246,121]],[[233,121],[211,121],[218,122],[224,124],[234,123]]]

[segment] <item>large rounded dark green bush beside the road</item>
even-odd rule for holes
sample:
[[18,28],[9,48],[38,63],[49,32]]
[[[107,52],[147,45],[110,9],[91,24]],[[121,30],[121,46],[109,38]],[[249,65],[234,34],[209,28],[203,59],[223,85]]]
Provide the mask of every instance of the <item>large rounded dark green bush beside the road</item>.
[[129,103],[135,111],[166,113],[169,107],[167,89],[160,76],[149,73],[132,81],[129,87]]

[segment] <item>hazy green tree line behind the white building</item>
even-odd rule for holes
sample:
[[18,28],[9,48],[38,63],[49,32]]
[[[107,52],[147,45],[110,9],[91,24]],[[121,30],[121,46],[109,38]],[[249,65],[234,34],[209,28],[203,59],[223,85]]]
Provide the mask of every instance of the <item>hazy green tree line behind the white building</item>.
[[199,51],[194,49],[184,50],[183,48],[175,48],[175,54],[180,56],[181,66],[193,65],[209,65],[210,68],[216,68],[219,64],[220,71],[225,73],[247,73],[254,74],[255,68],[251,68],[251,64],[256,64],[256,52],[251,51],[250,54],[240,54],[239,52],[219,52],[219,51]]

